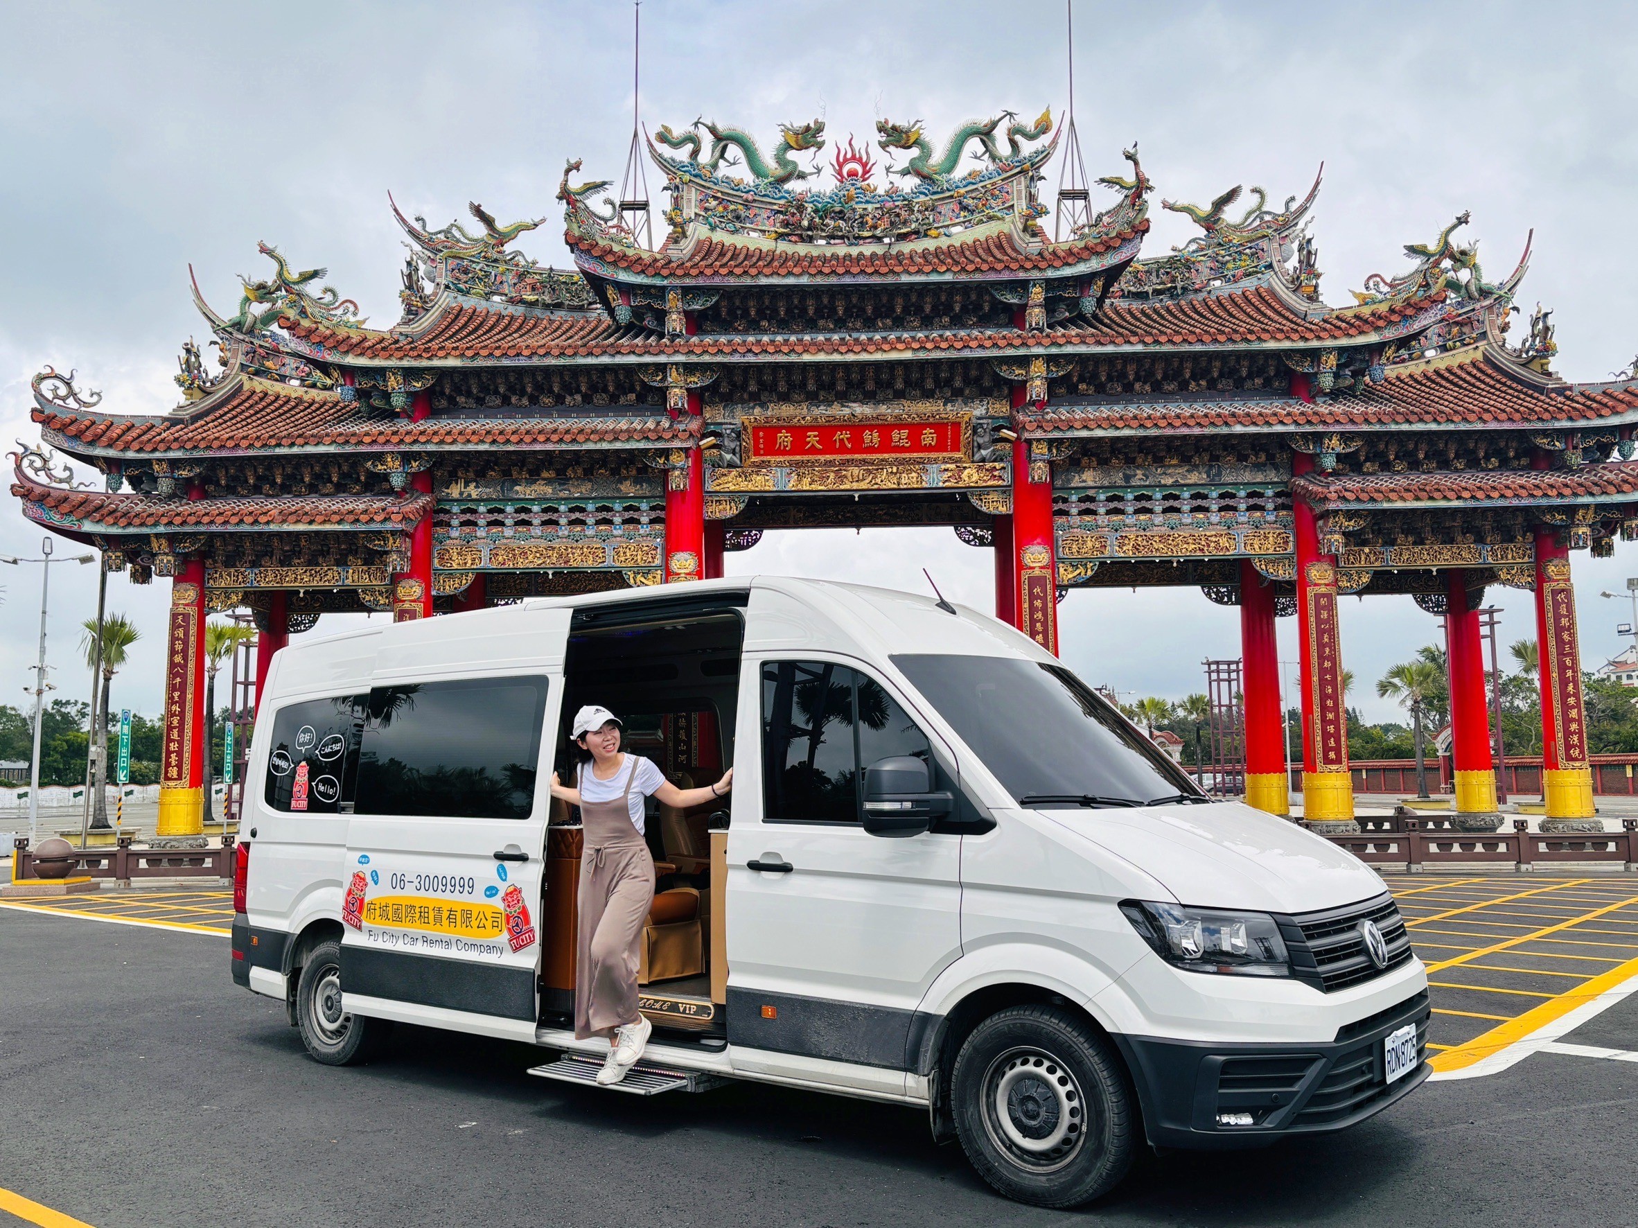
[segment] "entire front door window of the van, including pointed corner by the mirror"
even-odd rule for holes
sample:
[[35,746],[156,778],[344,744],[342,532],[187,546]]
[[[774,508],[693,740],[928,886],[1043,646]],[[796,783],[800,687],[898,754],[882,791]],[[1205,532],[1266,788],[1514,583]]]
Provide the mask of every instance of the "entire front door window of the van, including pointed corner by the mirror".
[[829,661],[762,666],[762,789],[768,822],[857,824],[862,766],[930,758],[927,737],[880,683]]

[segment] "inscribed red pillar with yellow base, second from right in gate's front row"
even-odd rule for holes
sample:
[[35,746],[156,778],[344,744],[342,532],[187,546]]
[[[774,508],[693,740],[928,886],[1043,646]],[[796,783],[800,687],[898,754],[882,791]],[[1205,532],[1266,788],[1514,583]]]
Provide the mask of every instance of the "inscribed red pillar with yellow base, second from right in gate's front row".
[[[1291,468],[1309,473],[1314,457],[1297,452]],[[1320,553],[1319,527],[1307,503],[1292,501],[1292,519],[1302,661],[1302,819],[1328,830],[1358,830],[1348,773],[1348,709],[1342,694],[1337,562]]]

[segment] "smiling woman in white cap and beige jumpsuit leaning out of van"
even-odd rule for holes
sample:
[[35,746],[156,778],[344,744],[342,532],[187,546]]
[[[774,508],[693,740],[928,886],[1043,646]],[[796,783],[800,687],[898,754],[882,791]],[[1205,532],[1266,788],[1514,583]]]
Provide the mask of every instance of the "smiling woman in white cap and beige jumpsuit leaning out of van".
[[575,712],[577,788],[552,774],[552,796],[580,807],[580,927],[575,935],[575,1038],[608,1036],[600,1084],[619,1082],[642,1056],[654,1025],[637,1010],[642,925],[654,904],[654,858],[644,843],[642,799],[688,809],[734,788],[729,768],[716,784],[678,789],[639,755],[621,752],[619,717],[606,707]]

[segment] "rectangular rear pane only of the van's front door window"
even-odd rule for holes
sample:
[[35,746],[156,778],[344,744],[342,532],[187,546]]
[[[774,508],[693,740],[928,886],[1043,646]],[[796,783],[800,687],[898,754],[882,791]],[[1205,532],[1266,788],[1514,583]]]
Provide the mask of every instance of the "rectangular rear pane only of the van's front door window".
[[762,756],[767,819],[857,822],[853,671],[827,661],[763,665]]

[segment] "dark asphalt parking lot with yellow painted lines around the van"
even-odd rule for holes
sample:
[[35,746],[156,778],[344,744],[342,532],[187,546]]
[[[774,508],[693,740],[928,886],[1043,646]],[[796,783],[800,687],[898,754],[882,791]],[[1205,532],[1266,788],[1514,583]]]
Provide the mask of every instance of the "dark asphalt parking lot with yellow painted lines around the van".
[[[904,1108],[749,1084],[619,1097],[529,1077],[527,1046],[418,1028],[370,1066],[318,1066],[282,1007],[229,981],[221,892],[57,905],[136,925],[5,907],[0,1225],[1638,1220],[1638,995],[1607,987],[1638,973],[1638,884],[1392,886],[1456,1068],[1345,1135],[1145,1158],[1073,1215],[1001,1200]],[[1509,1040],[1543,1027],[1561,1035]]]

